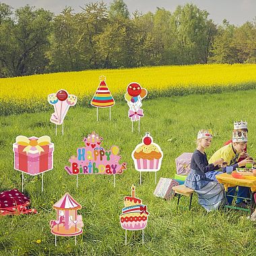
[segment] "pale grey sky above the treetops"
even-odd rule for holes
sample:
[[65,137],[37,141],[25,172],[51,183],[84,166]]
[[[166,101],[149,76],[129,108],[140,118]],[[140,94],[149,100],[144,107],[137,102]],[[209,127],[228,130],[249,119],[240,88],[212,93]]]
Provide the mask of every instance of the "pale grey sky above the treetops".
[[[42,7],[59,14],[65,6],[71,6],[75,12],[81,11],[80,6],[84,7],[86,3],[94,3],[94,0],[0,0],[1,3],[11,5],[14,9],[22,7],[26,4]],[[100,1],[100,0],[98,0]],[[113,0],[103,0],[109,7]],[[129,12],[135,10],[141,13],[148,11],[155,12],[157,7],[163,7],[168,11],[174,11],[177,5],[185,5],[193,3],[199,9],[205,9],[210,13],[209,18],[216,24],[222,24],[224,19],[230,24],[241,26],[245,22],[252,22],[256,17],[256,0],[124,0],[127,4]]]

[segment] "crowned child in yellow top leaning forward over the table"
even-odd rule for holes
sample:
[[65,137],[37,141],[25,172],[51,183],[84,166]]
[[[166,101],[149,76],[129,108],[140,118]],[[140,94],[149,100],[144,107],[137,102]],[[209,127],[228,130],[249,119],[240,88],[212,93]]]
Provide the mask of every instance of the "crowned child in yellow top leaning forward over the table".
[[[227,163],[228,166],[232,166],[233,170],[235,170],[238,167],[245,166],[247,163],[253,163],[253,160],[251,158],[245,158],[243,160],[240,160],[238,162],[237,157],[238,154],[241,154],[243,150],[245,150],[247,146],[247,131],[238,131],[237,129],[234,129],[233,135],[232,135],[232,143],[229,143],[228,145],[220,148],[217,150],[212,157],[210,158],[209,162],[212,163],[216,161],[216,159],[222,158],[224,159],[224,162]],[[226,167],[222,168],[222,172],[226,172]],[[218,171],[210,171],[206,173],[206,177],[212,180],[216,180],[216,174],[220,174],[222,172]],[[235,193],[235,187],[228,189],[228,205],[232,204],[233,197],[229,195],[234,195]],[[249,189],[248,187],[238,187],[238,198],[236,199],[236,206],[237,207],[244,207],[246,208],[247,205],[243,201],[242,198],[239,197],[248,197]]]

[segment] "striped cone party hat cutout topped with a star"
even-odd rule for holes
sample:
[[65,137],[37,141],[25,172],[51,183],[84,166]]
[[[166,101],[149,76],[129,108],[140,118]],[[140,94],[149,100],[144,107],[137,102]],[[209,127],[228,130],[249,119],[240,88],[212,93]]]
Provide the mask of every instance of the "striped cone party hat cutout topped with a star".
[[108,86],[105,83],[106,77],[100,76],[100,85],[96,90],[94,97],[92,98],[91,105],[99,108],[106,108],[108,106],[115,105],[115,100],[108,90]]

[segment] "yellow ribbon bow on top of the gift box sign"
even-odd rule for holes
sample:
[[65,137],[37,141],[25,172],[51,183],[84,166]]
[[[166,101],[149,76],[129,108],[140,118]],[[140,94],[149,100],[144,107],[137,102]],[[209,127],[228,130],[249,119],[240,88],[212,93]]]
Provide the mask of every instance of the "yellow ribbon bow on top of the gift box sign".
[[19,135],[16,137],[16,142],[19,145],[26,146],[23,152],[27,152],[27,154],[32,147],[35,147],[39,154],[41,154],[41,152],[44,152],[44,149],[41,146],[49,145],[51,143],[51,138],[47,135],[44,135],[38,139],[28,139],[26,136]]

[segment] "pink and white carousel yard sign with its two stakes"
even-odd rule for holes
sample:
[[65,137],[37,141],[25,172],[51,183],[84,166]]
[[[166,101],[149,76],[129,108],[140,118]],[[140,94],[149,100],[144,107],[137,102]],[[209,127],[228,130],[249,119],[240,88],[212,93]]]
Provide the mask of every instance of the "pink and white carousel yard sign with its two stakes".
[[57,245],[56,236],[76,236],[82,234],[84,226],[82,215],[77,215],[77,210],[82,206],[69,195],[65,193],[57,203],[53,205],[53,209],[57,211],[57,220],[51,220],[51,233],[55,234],[55,246]]

